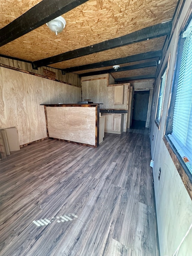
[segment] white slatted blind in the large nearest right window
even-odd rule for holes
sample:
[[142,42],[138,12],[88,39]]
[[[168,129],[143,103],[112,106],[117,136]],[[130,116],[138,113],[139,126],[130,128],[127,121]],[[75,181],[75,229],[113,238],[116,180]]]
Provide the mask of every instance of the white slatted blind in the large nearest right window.
[[176,91],[173,136],[182,143],[184,151],[192,154],[192,27],[187,34]]

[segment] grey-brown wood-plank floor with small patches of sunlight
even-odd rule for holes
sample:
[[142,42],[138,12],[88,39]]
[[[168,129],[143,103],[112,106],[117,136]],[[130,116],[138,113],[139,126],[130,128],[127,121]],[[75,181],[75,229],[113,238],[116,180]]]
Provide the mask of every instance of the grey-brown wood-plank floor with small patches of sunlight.
[[0,162],[0,255],[158,256],[147,130],[44,140]]

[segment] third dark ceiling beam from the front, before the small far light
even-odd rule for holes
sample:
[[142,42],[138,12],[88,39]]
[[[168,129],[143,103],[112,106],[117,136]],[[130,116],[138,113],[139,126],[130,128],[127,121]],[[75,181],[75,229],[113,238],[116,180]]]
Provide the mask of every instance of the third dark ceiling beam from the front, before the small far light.
[[113,66],[113,65],[120,65],[120,64],[124,64],[124,63],[141,61],[141,60],[146,60],[146,59],[154,59],[154,58],[159,59],[161,57],[162,57],[162,50],[152,51],[152,52],[147,52],[147,53],[140,53],[140,54],[127,56],[125,58],[113,59],[113,60],[97,62],[97,63],[93,63],[93,64],[87,64],[87,65],[62,69],[62,74],[69,73],[69,72],[77,72],[77,71],[86,70],[86,69],[109,67],[109,66]]

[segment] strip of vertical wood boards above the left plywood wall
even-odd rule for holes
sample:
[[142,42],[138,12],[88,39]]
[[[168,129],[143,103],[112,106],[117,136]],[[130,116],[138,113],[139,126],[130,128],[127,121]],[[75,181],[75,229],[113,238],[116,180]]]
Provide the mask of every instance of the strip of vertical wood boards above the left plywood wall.
[[32,74],[49,77],[48,74],[45,75],[44,73],[44,69],[45,69],[55,73],[56,80],[81,87],[81,80],[78,77],[78,74],[75,74],[75,73],[66,73],[65,75],[62,75],[61,70],[51,68],[51,67],[41,67],[41,68],[38,68],[38,70],[35,70],[32,68],[31,63],[0,57],[0,66],[3,66],[3,65],[6,65],[10,68],[16,68],[21,71],[27,71]]

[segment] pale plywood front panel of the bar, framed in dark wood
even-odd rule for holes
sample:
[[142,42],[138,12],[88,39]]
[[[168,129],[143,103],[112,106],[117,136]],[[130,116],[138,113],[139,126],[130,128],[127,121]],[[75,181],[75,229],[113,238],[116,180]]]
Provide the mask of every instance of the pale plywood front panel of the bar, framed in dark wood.
[[46,107],[49,137],[95,146],[95,107]]

